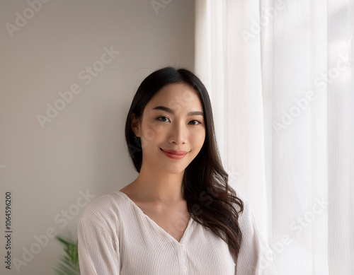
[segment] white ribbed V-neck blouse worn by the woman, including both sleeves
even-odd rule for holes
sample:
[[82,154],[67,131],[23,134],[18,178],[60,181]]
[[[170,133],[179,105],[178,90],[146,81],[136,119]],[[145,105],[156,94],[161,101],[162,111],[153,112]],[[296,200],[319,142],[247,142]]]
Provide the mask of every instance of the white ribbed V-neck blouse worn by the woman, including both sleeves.
[[239,218],[243,240],[236,264],[227,243],[192,218],[178,242],[125,193],[98,197],[78,221],[81,275],[276,274],[273,262],[264,257],[249,203],[239,192],[237,197],[244,201],[244,212]]

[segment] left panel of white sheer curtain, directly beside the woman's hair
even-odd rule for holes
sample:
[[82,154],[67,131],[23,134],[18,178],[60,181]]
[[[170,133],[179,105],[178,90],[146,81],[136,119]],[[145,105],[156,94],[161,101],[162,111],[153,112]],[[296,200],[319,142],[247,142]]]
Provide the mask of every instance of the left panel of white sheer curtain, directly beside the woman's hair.
[[235,35],[251,27],[260,7],[257,1],[197,0],[195,4],[195,72],[210,93],[223,165],[230,184],[253,205],[265,236],[271,223],[270,192],[265,185],[260,36],[246,45],[244,37]]

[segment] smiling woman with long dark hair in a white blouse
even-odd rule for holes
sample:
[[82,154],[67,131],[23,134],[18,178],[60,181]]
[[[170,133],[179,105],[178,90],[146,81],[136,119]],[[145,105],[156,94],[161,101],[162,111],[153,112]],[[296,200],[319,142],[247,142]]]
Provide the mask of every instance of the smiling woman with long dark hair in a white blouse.
[[172,67],[147,76],[125,139],[139,175],[79,219],[81,274],[275,274],[249,204],[228,185],[197,76]]

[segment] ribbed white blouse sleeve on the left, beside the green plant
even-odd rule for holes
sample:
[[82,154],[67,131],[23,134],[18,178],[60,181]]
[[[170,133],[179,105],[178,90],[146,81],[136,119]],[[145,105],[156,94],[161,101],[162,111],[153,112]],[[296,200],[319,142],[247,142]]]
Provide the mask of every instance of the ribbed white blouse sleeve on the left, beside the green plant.
[[79,218],[77,230],[81,275],[120,274],[118,239],[89,218]]

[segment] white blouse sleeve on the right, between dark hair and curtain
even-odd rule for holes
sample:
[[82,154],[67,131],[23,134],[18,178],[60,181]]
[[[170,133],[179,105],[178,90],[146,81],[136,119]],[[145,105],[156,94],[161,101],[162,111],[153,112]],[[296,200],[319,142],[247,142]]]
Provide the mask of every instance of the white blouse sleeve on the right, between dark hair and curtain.
[[[248,201],[239,218],[242,232],[241,249],[236,264],[237,275],[276,275],[268,244],[258,233],[256,220]],[[270,256],[269,256],[270,254]]]

